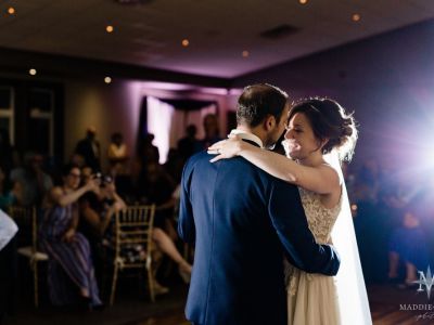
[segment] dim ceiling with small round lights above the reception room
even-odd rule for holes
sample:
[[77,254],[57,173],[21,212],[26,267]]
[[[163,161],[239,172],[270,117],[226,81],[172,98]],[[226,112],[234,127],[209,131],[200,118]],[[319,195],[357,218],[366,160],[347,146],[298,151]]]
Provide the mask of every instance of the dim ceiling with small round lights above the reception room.
[[119,1],[0,0],[0,48],[233,78],[434,17],[431,0]]

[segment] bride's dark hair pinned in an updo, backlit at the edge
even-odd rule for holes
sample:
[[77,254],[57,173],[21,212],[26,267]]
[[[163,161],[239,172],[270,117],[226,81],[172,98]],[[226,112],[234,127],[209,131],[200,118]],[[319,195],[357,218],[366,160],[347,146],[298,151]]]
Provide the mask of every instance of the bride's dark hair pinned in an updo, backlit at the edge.
[[322,98],[295,103],[288,121],[296,113],[306,116],[319,141],[329,139],[322,147],[322,154],[326,155],[336,150],[341,161],[352,160],[357,142],[356,121],[353,114],[347,114],[337,102]]

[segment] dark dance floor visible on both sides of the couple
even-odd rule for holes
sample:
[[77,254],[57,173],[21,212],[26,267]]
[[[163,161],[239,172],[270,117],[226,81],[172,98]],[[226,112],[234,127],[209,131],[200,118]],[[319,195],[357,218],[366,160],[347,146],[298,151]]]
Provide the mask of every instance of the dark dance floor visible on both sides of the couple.
[[[178,284],[169,294],[158,297],[155,303],[151,303],[145,295],[137,290],[120,290],[114,307],[85,314],[55,310],[48,301],[35,310],[31,307],[31,297],[28,297],[27,301],[20,302],[16,315],[8,317],[4,324],[188,325],[190,323],[183,316],[187,289],[187,286]],[[404,307],[408,309],[413,304],[420,308],[433,303],[434,298],[429,300],[425,291],[373,285],[368,287],[368,294],[374,325],[434,324],[434,311],[403,310]]]

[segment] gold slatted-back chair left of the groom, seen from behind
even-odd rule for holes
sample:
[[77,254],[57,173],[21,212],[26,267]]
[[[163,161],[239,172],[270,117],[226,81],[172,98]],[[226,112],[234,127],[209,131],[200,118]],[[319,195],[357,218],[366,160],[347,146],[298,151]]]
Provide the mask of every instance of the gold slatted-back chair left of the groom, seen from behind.
[[[114,224],[114,272],[110,304],[115,298],[118,272],[125,269],[144,269],[148,273],[148,286],[151,301],[155,301],[154,272],[152,263],[152,232],[154,226],[155,205],[128,206],[115,214]],[[139,248],[139,249],[137,249]],[[128,251],[141,250],[141,256],[131,258]]]

